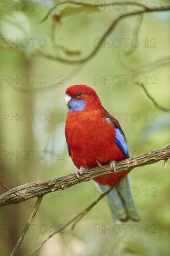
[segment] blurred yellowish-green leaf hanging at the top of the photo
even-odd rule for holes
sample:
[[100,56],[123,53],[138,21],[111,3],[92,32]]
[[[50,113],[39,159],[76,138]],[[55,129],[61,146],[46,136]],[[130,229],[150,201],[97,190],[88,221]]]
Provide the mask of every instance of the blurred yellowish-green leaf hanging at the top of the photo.
[[93,12],[100,12],[100,9],[98,7],[95,8],[94,10],[94,6],[90,6],[90,5],[83,5],[80,7],[65,7],[65,9],[60,13],[60,17],[66,17],[68,15],[72,15],[72,14],[76,14],[76,13],[93,13]]

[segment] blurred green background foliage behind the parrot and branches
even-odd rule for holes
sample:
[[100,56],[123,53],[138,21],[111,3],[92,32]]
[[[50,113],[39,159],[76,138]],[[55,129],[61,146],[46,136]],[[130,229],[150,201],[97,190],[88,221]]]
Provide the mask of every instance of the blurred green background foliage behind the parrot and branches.
[[[169,108],[169,12],[144,14],[138,35],[135,33],[138,15],[120,21],[95,56],[80,65],[55,58],[69,61],[85,58],[113,20],[123,13],[135,12],[135,5],[127,6],[126,10],[124,1],[109,1],[110,8],[94,10],[94,7],[81,9],[63,1],[41,22],[52,1],[34,2],[1,1],[1,179],[4,184],[13,188],[75,172],[64,135],[67,115],[64,94],[73,84],[87,84],[95,89],[104,108],[120,121],[131,156],[168,144],[169,113],[156,108],[135,81],[143,82],[157,103]],[[95,2],[83,1],[92,5]],[[169,5],[169,1],[163,0],[139,3],[148,7]],[[138,38],[138,47],[134,38]],[[10,50],[11,47],[15,49]],[[36,255],[170,255],[170,164],[165,171],[163,165],[161,161],[131,172],[139,223],[116,225],[107,202],[102,200],[73,231],[71,226],[64,229]],[[5,191],[1,188],[1,193]],[[28,255],[97,196],[93,181],[45,195],[17,255]],[[12,252],[35,202],[33,198],[1,209],[0,255]]]

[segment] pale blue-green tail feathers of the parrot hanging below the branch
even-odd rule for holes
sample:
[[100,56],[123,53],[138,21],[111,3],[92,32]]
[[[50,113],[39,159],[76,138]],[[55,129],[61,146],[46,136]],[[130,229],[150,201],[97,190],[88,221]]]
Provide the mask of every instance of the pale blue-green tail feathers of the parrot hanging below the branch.
[[[97,182],[95,182],[95,184],[103,193],[110,188],[108,185],[103,186]],[[133,203],[129,175],[126,175],[120,182],[120,185],[112,189],[112,191],[106,195],[106,199],[113,219],[116,222],[126,222],[129,219],[139,221],[139,216]]]

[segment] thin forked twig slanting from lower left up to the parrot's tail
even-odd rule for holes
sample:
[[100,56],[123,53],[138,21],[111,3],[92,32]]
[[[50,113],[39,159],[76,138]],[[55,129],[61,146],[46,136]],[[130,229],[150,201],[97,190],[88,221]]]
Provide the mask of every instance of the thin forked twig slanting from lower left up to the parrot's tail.
[[112,187],[110,187],[110,189],[107,190],[107,192],[101,194],[99,196],[99,198],[97,200],[95,200],[92,204],[90,204],[86,209],[84,209],[81,213],[79,213],[78,215],[76,215],[73,219],[71,219],[69,222],[67,222],[61,229],[58,229],[56,231],[54,231],[53,233],[50,234],[50,236],[48,236],[42,243],[40,243],[38,245],[38,247],[36,249],[34,249],[31,254],[29,256],[32,256],[34,253],[36,253],[42,246],[44,243],[46,243],[52,236],[56,235],[57,233],[63,231],[63,229],[65,229],[66,227],[69,226],[69,224],[71,224],[72,222],[74,222],[73,226],[72,226],[72,230],[74,229],[75,225],[77,222],[79,222],[83,216],[85,216],[99,201],[101,201],[101,199],[107,195],[118,183],[121,182],[121,180],[124,177],[120,178],[120,180],[118,182],[116,182]]

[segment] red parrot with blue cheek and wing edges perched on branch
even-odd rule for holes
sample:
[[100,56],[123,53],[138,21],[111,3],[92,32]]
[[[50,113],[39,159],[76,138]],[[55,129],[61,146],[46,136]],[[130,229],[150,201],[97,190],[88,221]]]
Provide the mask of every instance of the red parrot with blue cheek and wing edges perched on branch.
[[125,178],[106,196],[112,216],[117,222],[128,219],[139,221],[131,194],[128,171],[116,173],[114,162],[129,158],[126,137],[119,122],[101,105],[94,89],[86,85],[67,88],[65,103],[68,108],[65,136],[72,161],[78,168],[76,175],[97,166],[96,160],[110,164],[113,174],[95,178],[106,192],[110,186]]

